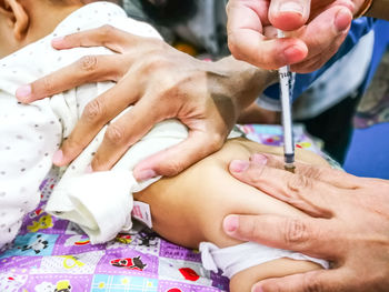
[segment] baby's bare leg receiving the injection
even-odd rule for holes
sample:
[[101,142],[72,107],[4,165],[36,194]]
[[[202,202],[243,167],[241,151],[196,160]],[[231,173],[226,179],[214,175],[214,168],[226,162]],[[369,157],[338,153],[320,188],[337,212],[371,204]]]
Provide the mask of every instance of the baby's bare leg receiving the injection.
[[[134,194],[134,199],[150,204],[153,229],[159,234],[188,248],[198,248],[202,241],[219,248],[241,243],[222,231],[222,220],[230,213],[305,217],[297,209],[230,175],[228,163],[232,159],[248,159],[256,152],[281,153],[281,149],[245,139],[228,141],[222,150],[174,178],[160,180]],[[307,151],[298,153],[298,158],[315,164],[326,163]],[[311,262],[279,259],[237,273],[231,281],[231,291],[250,291],[250,286],[261,279],[313,269],[318,265]]]

